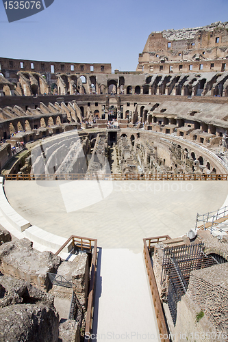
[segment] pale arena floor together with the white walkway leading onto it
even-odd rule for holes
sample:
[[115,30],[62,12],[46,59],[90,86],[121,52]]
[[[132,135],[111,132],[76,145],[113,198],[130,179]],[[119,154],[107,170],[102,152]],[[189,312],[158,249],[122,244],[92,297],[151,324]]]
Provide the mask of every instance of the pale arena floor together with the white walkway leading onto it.
[[[34,226],[64,238],[98,239],[97,341],[157,342],[142,238],[185,234],[194,227],[197,213],[223,207],[228,182],[6,181],[5,194]],[[0,215],[1,220],[5,218]]]

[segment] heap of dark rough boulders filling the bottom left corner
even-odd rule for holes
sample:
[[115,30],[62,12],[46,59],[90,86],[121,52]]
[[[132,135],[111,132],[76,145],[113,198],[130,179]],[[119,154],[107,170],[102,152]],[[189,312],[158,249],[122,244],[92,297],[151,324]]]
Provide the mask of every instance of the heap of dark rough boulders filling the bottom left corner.
[[53,296],[12,276],[0,276],[0,334],[3,342],[58,341]]

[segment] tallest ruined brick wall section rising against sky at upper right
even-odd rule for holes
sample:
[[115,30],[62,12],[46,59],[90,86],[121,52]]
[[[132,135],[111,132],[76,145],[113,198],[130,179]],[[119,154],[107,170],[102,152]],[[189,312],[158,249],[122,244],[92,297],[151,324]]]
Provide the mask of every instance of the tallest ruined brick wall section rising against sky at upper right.
[[189,73],[225,71],[228,61],[228,22],[192,29],[168,29],[149,35],[136,71]]

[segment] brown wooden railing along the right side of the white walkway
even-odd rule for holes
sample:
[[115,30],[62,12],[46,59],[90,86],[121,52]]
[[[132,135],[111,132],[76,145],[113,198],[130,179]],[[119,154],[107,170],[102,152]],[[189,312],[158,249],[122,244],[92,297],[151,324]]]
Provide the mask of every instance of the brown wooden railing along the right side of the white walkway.
[[155,275],[153,273],[153,267],[151,265],[151,258],[150,258],[149,251],[151,250],[151,248],[153,248],[153,246],[155,244],[157,244],[160,241],[167,240],[167,239],[170,239],[170,237],[168,235],[163,235],[163,236],[159,236],[159,237],[150,237],[148,239],[143,239],[144,261],[145,261],[146,268],[147,268],[147,275],[149,278],[149,286],[150,286],[151,295],[153,298],[153,305],[155,308],[155,316],[157,318],[157,326],[158,326],[158,330],[160,333],[160,339],[162,342],[169,342],[170,339],[168,338],[169,332],[168,332],[168,328],[166,326],[166,319],[164,316],[164,311],[162,308],[162,302],[160,300],[160,295],[159,295],[159,292],[157,289],[157,283],[155,280]]

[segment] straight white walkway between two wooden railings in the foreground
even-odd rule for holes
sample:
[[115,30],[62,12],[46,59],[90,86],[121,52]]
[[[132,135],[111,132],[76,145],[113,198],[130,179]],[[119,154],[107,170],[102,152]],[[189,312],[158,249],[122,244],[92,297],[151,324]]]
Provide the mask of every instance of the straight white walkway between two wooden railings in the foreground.
[[94,341],[160,341],[142,251],[102,249],[99,259]]

